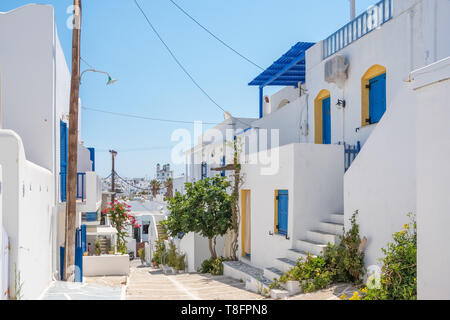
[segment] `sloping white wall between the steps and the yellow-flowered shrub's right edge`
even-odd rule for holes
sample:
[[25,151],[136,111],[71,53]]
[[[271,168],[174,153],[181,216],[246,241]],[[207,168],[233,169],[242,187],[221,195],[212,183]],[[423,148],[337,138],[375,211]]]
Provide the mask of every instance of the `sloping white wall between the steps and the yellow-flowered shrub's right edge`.
[[378,263],[381,248],[416,211],[415,100],[403,86],[344,178],[346,226],[359,210],[360,233],[369,240],[367,265]]

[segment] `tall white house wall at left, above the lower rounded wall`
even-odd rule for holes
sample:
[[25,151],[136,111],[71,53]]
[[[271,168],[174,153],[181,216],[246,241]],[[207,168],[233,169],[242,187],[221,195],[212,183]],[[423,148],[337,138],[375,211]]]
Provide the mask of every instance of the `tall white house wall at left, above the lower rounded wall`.
[[20,135],[30,161],[56,171],[55,146],[59,119],[68,113],[70,75],[52,6],[0,13],[0,65],[3,128]]

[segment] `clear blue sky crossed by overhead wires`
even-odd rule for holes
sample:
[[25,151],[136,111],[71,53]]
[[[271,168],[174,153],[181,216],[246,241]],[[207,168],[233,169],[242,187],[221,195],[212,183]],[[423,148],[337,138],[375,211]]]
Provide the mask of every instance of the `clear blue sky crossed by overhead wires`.
[[[175,0],[236,50],[268,67],[298,41],[316,42],[349,19],[347,0]],[[257,117],[258,89],[247,86],[260,70],[195,25],[169,0],[139,0],[150,20],[198,83],[227,111]],[[357,14],[376,0],[356,0]],[[1,0],[0,11],[28,3],[52,4],[58,34],[70,67],[72,31],[66,27],[72,0]],[[105,86],[88,73],[80,96],[85,107],[147,117],[221,122],[223,112],[193,85],[151,31],[133,0],[83,0],[82,57],[119,81]],[[82,64],[82,70],[87,68]],[[175,129],[192,125],[82,112],[82,139],[97,149],[96,169],[111,170],[107,150],[119,152],[122,177],[155,175],[170,162]],[[205,126],[207,128],[207,126]],[[175,174],[183,172],[175,167]]]

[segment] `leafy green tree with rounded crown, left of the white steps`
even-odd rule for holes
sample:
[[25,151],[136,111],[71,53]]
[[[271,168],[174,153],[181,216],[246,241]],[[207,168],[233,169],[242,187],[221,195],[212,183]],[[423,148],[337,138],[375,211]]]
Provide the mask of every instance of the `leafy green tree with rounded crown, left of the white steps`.
[[228,187],[230,182],[220,176],[186,183],[186,193],[177,192],[169,201],[171,214],[163,222],[166,232],[172,237],[180,233],[199,233],[208,238],[211,258],[217,258],[217,237],[223,236],[231,224]]

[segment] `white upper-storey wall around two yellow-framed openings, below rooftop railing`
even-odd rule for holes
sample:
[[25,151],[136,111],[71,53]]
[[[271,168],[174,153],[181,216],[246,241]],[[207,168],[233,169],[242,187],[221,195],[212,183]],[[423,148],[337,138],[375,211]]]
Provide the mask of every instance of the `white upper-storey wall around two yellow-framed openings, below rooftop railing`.
[[[415,6],[411,7],[412,4]],[[314,142],[314,99],[322,89],[331,93],[332,143],[364,143],[376,125],[361,127],[361,78],[374,64],[387,69],[387,108],[401,90],[408,74],[450,54],[446,30],[450,2],[441,0],[394,1],[394,18],[341,50],[349,61],[348,79],[342,89],[324,80],[322,42],[306,52],[309,94],[309,142]],[[336,108],[338,99],[347,102]]]

